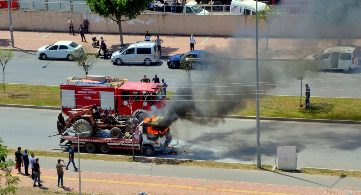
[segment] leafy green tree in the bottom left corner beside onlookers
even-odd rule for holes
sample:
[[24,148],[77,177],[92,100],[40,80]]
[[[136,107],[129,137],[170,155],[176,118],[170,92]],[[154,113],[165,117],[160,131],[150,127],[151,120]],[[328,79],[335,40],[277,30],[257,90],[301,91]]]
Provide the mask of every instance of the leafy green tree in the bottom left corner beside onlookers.
[[[8,147],[3,145],[3,139],[0,138],[0,157],[7,157],[8,155]],[[0,169],[5,170],[0,171],[0,195],[5,194],[15,194],[15,190],[17,190],[16,185],[20,182],[19,177],[14,177],[11,175],[12,166],[14,166],[15,163],[13,160],[9,159],[5,162],[1,161],[0,159]]]

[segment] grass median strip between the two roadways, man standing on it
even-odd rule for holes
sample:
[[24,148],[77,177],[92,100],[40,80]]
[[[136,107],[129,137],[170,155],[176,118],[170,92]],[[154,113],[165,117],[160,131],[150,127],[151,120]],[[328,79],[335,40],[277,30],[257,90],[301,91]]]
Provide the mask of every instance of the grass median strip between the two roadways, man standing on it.
[[[0,84],[0,89],[3,85]],[[60,107],[60,87],[26,84],[5,84],[0,93],[0,104],[22,104]],[[167,91],[169,101],[174,92]],[[303,97],[304,101],[304,97]],[[300,97],[266,95],[260,100],[260,116],[285,118],[315,118],[329,120],[361,120],[361,99],[337,97],[311,97],[309,109],[299,107]],[[212,114],[212,113],[208,113]],[[236,107],[232,115],[256,116],[256,102],[247,100]]]

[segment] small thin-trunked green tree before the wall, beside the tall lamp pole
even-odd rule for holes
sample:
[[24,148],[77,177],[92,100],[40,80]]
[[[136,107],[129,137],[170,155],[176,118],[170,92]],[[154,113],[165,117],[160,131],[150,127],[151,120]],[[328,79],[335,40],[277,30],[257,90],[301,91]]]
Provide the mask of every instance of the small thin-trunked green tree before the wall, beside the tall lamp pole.
[[[271,24],[275,18],[278,18],[282,15],[285,15],[283,8],[278,8],[277,6],[269,6],[264,10],[257,12],[257,22],[264,20],[267,23],[267,43],[266,49],[268,50],[268,39],[271,30]],[[250,17],[253,18],[253,17]]]

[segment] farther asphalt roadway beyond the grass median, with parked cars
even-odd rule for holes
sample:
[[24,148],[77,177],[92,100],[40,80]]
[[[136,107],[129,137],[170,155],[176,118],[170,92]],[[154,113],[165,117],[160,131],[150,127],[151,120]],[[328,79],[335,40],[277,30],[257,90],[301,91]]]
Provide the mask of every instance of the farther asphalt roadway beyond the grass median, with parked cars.
[[[84,70],[77,68],[75,62],[68,60],[39,60],[34,52],[14,52],[14,58],[5,68],[5,82],[23,84],[59,85],[66,77],[83,77]],[[261,93],[269,95],[300,94],[300,81],[287,77],[283,73],[284,61],[260,61],[260,84],[267,87]],[[221,60],[219,64],[210,66],[207,70],[194,70],[191,73],[192,83],[253,83],[255,78],[255,61],[233,59],[230,62]],[[323,97],[361,97],[361,68],[357,67],[350,73],[339,70],[319,72],[303,81],[311,87],[312,96]],[[153,78],[157,74],[168,82],[168,90],[177,90],[180,84],[188,83],[188,75],[183,70],[172,70],[161,60],[151,66],[140,64],[113,65],[110,60],[99,59],[89,71],[92,75],[106,75],[117,78],[127,78],[129,81],[139,81],[144,74]],[[229,79],[229,78],[240,79]],[[228,79],[227,79],[228,78]],[[3,79],[1,74],[0,79]],[[254,87],[255,88],[255,87]],[[303,92],[304,93],[304,92]]]

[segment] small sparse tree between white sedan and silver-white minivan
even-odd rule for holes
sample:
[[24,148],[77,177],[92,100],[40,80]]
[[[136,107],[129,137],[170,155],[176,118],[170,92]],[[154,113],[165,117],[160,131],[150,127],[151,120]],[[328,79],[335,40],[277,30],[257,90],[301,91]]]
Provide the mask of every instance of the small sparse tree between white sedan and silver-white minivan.
[[85,71],[88,75],[96,62],[97,54],[92,53],[92,48],[88,45],[83,45],[83,52],[74,53],[73,59],[77,66]]

